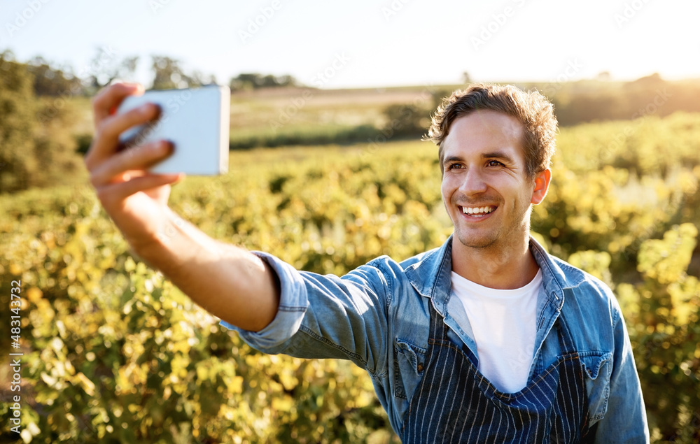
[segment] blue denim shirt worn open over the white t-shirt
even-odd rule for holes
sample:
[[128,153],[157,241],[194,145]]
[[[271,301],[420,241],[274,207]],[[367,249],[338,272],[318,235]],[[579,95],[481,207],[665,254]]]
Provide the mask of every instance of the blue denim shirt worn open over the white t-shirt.
[[[373,259],[337,277],[297,271],[280,259],[254,252],[279,277],[274,320],[258,332],[239,332],[253,348],[303,358],[350,359],[369,373],[394,430],[401,430],[409,401],[423,376],[428,351],[428,304],[444,317],[451,340],[478,360],[461,302],[451,298],[450,237],[440,248],[403,262]],[[619,305],[600,280],[548,255],[533,238],[530,250],[542,270],[533,356],[528,380],[561,353],[554,321],[561,313],[584,366],[589,424],[596,441],[645,443],[647,419],[629,336]],[[477,365],[477,362],[475,362]],[[428,406],[427,408],[430,408]]]

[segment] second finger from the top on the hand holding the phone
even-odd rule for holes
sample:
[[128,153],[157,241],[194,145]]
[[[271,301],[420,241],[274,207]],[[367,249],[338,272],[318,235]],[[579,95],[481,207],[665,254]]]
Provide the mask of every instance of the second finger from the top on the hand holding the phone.
[[102,164],[104,159],[111,157],[118,150],[120,134],[131,127],[155,119],[159,113],[160,108],[157,105],[144,103],[127,113],[107,117],[96,132],[92,146],[85,156],[87,169],[92,170],[94,166]]

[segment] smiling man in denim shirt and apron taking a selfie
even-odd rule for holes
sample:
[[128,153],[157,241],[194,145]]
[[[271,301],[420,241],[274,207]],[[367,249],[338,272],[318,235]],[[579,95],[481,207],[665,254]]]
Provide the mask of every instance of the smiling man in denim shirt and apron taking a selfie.
[[[615,297],[529,236],[554,152],[537,92],[474,85],[433,117],[454,235],[342,278],[214,241],[167,206],[179,175],[146,173],[165,142],[117,152],[155,106],[111,113],[137,85],[94,99],[85,162],[138,255],[264,352],[351,359],[405,442],[647,442],[640,384]],[[177,223],[176,223],[177,221]],[[161,237],[159,232],[174,232]]]

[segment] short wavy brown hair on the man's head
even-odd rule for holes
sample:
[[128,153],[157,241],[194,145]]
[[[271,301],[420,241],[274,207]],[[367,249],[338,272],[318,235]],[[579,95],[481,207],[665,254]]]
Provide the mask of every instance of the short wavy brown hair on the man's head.
[[449,127],[457,117],[480,110],[493,110],[515,117],[524,127],[523,150],[525,173],[534,178],[549,168],[554,154],[556,117],[554,106],[537,91],[524,92],[512,85],[485,85],[479,83],[468,89],[458,89],[442,99],[433,115],[433,122],[426,140],[440,147],[440,173],[444,173],[442,143],[449,134]]

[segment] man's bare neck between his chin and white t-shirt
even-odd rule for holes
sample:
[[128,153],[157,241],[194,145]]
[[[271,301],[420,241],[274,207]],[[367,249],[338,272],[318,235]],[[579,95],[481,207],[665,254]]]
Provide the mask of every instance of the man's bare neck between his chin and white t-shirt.
[[468,247],[452,239],[452,271],[472,282],[495,289],[527,285],[540,267],[529,249],[528,234],[507,246]]

